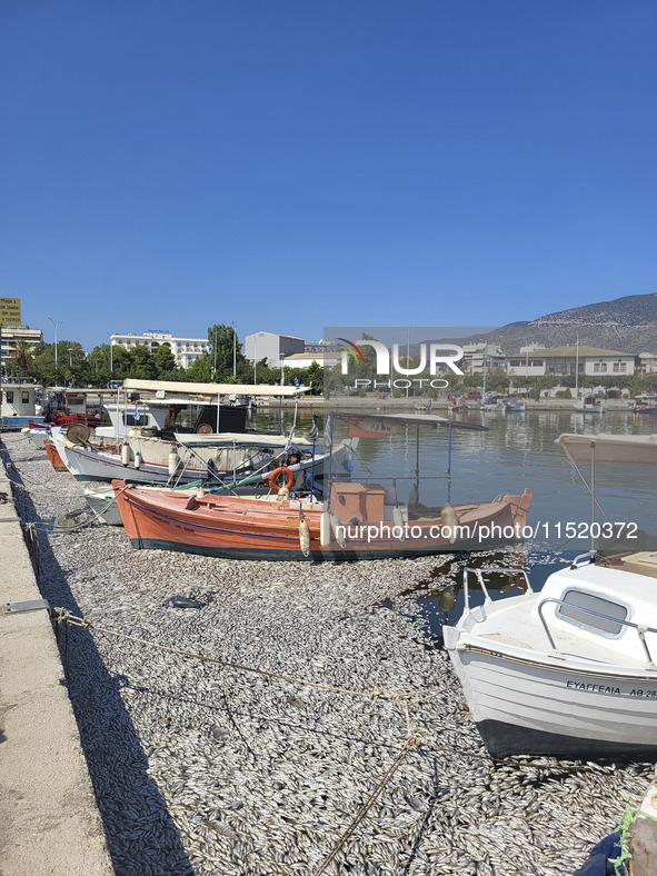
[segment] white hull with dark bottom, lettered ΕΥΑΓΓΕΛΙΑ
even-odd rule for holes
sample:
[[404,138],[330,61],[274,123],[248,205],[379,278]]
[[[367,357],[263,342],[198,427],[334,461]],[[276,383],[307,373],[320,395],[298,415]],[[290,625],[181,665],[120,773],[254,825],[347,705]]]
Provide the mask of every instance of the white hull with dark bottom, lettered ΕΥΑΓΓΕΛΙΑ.
[[491,755],[657,753],[657,674],[571,670],[555,658],[548,665],[484,646],[460,649],[450,629],[447,649]]

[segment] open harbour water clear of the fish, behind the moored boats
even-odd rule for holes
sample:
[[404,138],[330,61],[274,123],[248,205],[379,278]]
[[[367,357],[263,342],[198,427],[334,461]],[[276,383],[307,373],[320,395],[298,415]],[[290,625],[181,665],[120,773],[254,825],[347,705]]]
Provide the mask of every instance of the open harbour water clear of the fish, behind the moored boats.
[[[289,429],[293,411],[289,408],[272,411],[273,416],[258,410],[255,425],[259,429]],[[590,522],[590,496],[579,476],[571,468],[561,448],[555,444],[561,432],[598,435],[649,435],[657,420],[629,411],[607,411],[590,416],[570,410],[527,411],[524,415],[504,415],[468,410],[458,415],[467,422],[482,424],[488,431],[452,432],[451,501],[487,501],[497,495],[521,494],[525,487],[534,489],[528,522],[536,528],[537,544],[531,548],[496,554],[450,555],[437,557],[431,574],[416,581],[395,601],[414,600],[426,629],[436,641],[440,640],[444,623],[455,623],[462,613],[462,569],[504,565],[526,567],[531,587],[540,589],[547,576],[589,547],[588,537],[569,538],[568,522]],[[297,435],[308,436],[311,414],[299,411]],[[322,417],[317,417],[320,435]],[[347,425],[336,420],[336,439],[347,437]],[[405,427],[399,435],[384,439],[361,439],[354,459],[352,478],[389,482],[397,479],[401,501],[408,499],[414,486],[416,467],[420,467],[420,501],[441,505],[447,498],[448,430],[421,428],[419,454],[416,451],[415,426]],[[583,469],[588,478],[588,470]],[[647,534],[657,529],[655,488],[657,471],[647,466],[600,465],[596,469],[596,497],[611,521],[636,522]],[[596,519],[604,517],[596,512]],[[376,560],[374,560],[376,563]],[[491,597],[504,598],[509,584],[504,576],[499,587],[491,579]],[[474,584],[474,581],[472,581]],[[482,596],[471,594],[471,604]],[[390,603],[392,605],[392,603]]]

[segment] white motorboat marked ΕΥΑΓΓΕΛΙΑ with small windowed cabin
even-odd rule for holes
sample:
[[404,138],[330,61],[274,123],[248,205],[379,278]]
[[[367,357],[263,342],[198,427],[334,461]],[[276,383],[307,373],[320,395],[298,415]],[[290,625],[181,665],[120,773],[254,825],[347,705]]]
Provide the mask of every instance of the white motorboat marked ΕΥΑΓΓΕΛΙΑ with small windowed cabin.
[[[486,571],[466,569],[465,610],[444,636],[490,754],[655,758],[654,578],[578,558],[540,593],[527,581],[524,595],[492,601]],[[475,608],[472,574],[485,594]]]

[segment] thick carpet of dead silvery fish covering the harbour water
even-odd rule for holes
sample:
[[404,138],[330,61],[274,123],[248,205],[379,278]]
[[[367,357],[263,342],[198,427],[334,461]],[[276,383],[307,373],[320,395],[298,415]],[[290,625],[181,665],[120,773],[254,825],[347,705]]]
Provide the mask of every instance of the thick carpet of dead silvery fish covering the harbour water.
[[88,624],[60,650],[119,876],[563,876],[640,804],[651,764],[488,756],[408,595],[430,558],[136,551],[4,444],[42,593]]

